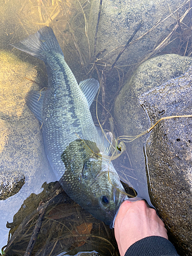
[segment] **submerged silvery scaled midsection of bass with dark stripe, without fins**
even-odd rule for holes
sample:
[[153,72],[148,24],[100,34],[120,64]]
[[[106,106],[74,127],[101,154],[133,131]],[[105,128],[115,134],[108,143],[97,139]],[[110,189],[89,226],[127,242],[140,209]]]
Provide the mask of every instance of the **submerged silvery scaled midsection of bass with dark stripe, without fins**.
[[60,179],[65,173],[65,165],[60,156],[66,146],[76,140],[77,135],[85,138],[82,127],[89,127],[91,134],[96,134],[97,131],[87,100],[63,56],[55,52],[46,52],[44,55],[49,76],[49,92],[45,95],[42,129],[46,154],[57,178]]

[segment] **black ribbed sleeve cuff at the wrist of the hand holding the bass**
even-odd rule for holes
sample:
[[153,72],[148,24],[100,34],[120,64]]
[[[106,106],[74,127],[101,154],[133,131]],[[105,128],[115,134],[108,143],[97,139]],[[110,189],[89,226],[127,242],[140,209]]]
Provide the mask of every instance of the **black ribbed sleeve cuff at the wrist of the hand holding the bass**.
[[147,237],[132,244],[124,256],[179,256],[173,244],[162,237]]

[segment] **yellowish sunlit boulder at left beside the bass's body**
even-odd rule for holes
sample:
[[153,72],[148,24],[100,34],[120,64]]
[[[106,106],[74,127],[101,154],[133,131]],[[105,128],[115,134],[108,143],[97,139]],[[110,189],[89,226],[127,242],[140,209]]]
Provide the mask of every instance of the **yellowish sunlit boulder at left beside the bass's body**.
[[29,182],[38,172],[39,179],[49,165],[39,123],[25,103],[27,92],[39,88],[29,81],[37,71],[6,52],[1,52],[0,70],[0,199],[5,200],[18,192],[25,177]]

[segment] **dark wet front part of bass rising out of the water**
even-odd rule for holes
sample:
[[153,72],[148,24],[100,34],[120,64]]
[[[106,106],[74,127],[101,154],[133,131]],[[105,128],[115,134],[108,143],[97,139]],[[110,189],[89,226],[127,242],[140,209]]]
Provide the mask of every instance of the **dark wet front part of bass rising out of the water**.
[[126,199],[113,164],[102,157],[95,143],[86,140],[71,142],[61,159],[66,168],[59,180],[63,189],[95,218],[110,225]]

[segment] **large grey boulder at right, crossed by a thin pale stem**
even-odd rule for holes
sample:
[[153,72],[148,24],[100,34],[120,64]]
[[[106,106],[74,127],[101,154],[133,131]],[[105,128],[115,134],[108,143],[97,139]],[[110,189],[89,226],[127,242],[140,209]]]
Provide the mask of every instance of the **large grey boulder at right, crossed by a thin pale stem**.
[[[137,135],[162,117],[191,115],[191,64],[191,58],[173,54],[144,62],[115,102],[121,133]],[[163,120],[127,144],[140,195],[146,173],[151,201],[182,255],[192,255],[191,125],[191,118]]]

